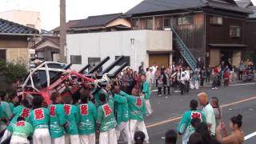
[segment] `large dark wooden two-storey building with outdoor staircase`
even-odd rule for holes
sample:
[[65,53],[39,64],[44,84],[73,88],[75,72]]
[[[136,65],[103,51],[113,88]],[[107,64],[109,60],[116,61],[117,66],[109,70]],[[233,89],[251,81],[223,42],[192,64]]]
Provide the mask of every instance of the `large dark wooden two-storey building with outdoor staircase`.
[[144,0],[126,12],[133,30],[173,30],[174,62],[238,66],[246,50],[245,23],[251,10],[234,0]]

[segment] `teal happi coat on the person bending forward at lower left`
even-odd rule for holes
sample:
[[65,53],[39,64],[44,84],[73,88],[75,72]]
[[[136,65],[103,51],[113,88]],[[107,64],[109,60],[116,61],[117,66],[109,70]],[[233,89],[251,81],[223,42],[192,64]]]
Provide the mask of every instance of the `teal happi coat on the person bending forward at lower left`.
[[19,121],[14,124],[13,135],[15,136],[27,138],[29,136],[32,136],[33,132],[34,132],[34,128],[29,122]]

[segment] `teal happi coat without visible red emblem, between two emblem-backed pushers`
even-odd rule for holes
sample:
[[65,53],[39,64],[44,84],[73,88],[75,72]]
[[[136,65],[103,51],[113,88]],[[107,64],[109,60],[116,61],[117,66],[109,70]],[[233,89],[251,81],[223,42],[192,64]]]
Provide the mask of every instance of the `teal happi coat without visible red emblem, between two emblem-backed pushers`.
[[116,120],[119,123],[128,122],[128,103],[125,97],[121,95],[114,94],[114,112],[116,115]]

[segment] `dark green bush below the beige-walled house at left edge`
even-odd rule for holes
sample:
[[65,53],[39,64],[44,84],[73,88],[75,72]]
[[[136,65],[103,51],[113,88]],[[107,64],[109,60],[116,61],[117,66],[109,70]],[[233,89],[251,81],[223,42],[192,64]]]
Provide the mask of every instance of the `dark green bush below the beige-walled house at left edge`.
[[4,62],[0,61],[0,75],[4,76],[6,82],[10,84],[17,78],[25,77],[27,72],[24,62]]

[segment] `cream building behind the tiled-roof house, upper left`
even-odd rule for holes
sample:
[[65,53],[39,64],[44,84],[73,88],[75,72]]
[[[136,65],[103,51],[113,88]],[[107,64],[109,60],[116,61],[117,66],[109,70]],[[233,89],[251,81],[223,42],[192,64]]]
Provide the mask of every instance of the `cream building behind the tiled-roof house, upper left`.
[[3,11],[0,12],[0,18],[41,31],[41,18],[39,12],[25,10]]

